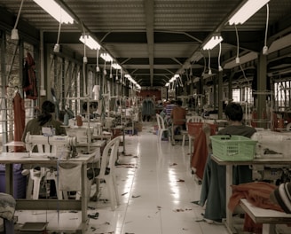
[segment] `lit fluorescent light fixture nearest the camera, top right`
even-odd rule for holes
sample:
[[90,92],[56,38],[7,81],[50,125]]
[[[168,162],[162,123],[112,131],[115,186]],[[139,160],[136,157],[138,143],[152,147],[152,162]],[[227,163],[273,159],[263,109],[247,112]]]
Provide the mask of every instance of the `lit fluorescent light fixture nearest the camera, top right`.
[[240,10],[232,16],[231,20],[229,20],[230,25],[243,24],[265,4],[269,3],[269,1],[270,0],[248,0],[248,2],[241,6]]

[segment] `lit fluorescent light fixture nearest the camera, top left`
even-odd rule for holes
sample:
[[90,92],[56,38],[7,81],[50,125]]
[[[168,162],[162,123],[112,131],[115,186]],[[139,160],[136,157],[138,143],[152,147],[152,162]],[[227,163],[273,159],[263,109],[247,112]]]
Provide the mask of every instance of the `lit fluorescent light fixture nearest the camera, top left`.
[[60,23],[73,24],[74,19],[54,0],[34,0],[36,4],[48,12],[54,19]]

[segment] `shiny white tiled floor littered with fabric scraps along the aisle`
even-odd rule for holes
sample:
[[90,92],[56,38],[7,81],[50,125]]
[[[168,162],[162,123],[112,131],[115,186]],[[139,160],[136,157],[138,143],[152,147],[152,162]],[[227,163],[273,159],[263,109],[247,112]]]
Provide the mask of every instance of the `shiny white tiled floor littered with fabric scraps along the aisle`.
[[[106,183],[102,183],[101,200],[90,202],[88,210],[88,214],[98,212],[98,219],[90,219],[86,233],[228,233],[224,225],[196,222],[201,220],[203,208],[192,201],[200,198],[201,185],[191,173],[188,146],[172,146],[166,141],[159,144],[153,125],[146,122],[138,136],[126,136],[126,151],[117,168],[121,205],[112,211],[110,203],[104,203],[108,196]],[[80,214],[69,212],[18,211],[16,215],[19,225],[47,221],[49,230],[59,233],[74,233],[80,223]]]

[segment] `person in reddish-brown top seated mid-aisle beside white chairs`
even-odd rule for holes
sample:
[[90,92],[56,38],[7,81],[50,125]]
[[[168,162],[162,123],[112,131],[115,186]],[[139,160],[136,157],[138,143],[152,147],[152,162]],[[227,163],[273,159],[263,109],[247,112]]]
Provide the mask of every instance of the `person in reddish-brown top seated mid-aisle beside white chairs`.
[[186,114],[187,111],[182,107],[182,100],[177,100],[177,105],[172,109],[170,118],[172,120],[172,134],[178,135],[181,129],[186,129]]

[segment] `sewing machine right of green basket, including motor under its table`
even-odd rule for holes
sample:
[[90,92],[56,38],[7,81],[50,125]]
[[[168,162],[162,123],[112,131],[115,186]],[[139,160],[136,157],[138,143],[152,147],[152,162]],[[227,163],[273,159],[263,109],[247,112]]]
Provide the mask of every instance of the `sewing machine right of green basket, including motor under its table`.
[[[278,160],[291,158],[291,132],[257,131],[252,139],[257,141],[256,158]],[[291,165],[253,166],[253,179],[275,183],[290,181]]]

